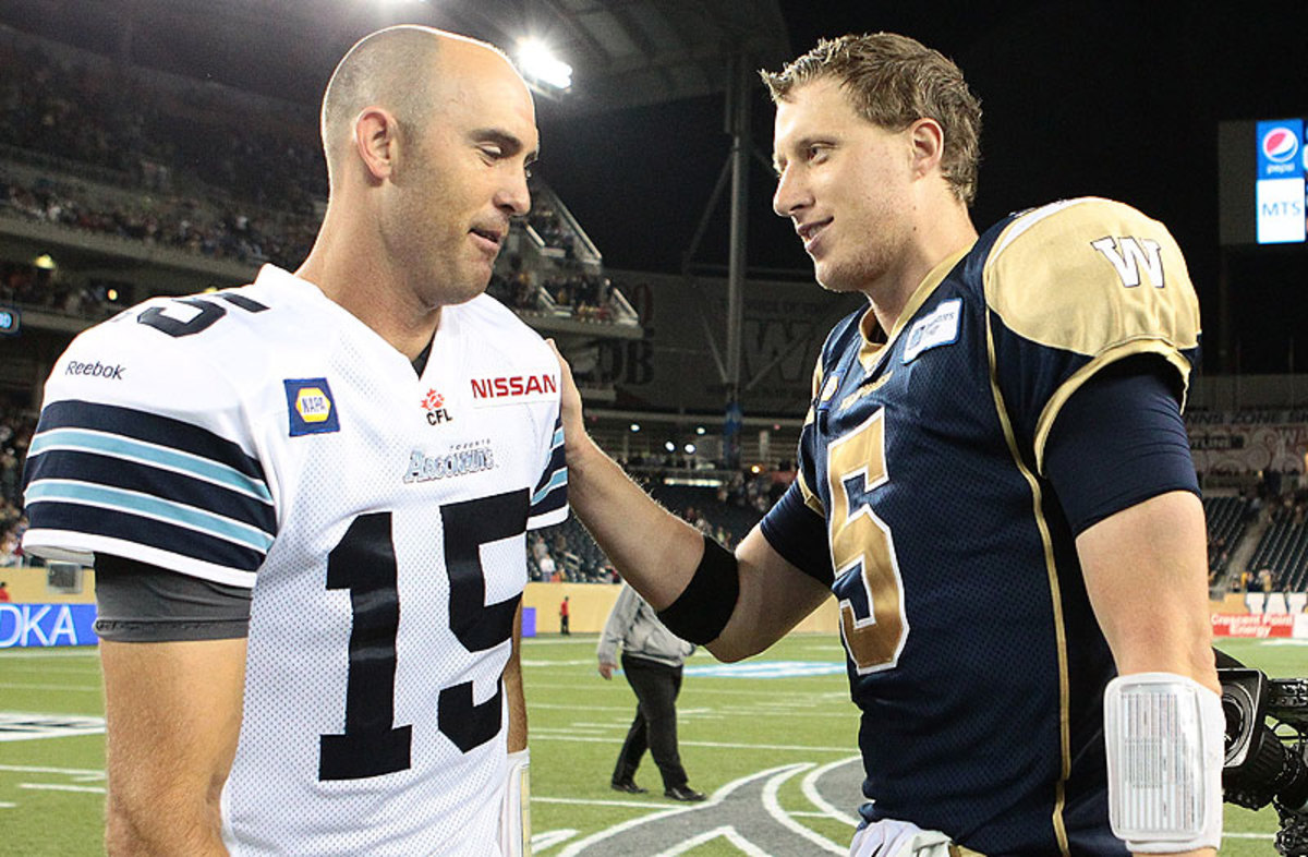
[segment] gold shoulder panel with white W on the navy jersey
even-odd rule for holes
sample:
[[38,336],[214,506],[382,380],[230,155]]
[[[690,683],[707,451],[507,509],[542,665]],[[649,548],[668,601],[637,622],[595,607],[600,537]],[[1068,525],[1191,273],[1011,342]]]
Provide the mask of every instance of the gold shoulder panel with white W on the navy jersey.
[[1199,302],[1167,228],[1107,199],[1054,203],[1014,220],[984,271],[986,305],[1012,332],[1091,361],[1045,403],[1036,423],[1036,468],[1054,419],[1095,372],[1133,355],[1158,355],[1189,386],[1181,355],[1199,341]]

